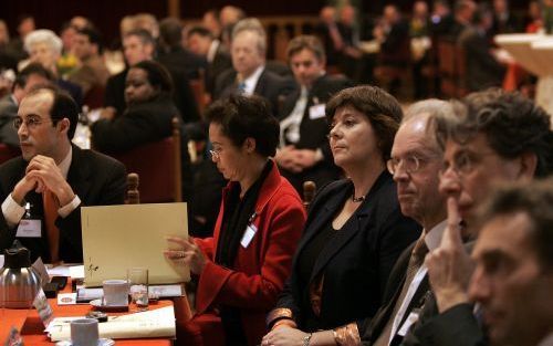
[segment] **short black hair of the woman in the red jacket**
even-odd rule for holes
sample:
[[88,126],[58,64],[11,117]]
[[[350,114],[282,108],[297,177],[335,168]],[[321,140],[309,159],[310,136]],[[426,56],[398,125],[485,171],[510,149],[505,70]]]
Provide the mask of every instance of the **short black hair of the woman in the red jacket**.
[[222,134],[237,147],[251,137],[255,139],[255,151],[261,156],[275,155],[280,125],[271,115],[265,98],[252,95],[219,99],[208,107],[206,118],[221,125]]

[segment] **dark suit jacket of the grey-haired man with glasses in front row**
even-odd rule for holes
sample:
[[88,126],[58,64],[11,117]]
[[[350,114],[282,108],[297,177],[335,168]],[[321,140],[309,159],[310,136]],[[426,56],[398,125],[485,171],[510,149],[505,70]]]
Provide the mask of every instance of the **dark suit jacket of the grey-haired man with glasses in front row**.
[[[399,259],[394,265],[392,273],[388,279],[388,283],[386,285],[386,291],[384,293],[384,302],[378,312],[375,314],[375,317],[371,321],[367,327],[365,327],[365,334],[362,335],[363,345],[372,345],[376,342],[376,339],[380,336],[386,326],[388,319],[395,318],[393,316],[394,307],[396,305],[397,300],[399,298],[399,294],[401,293],[403,285],[407,275],[407,266],[409,264],[409,259],[413,252],[413,248],[415,243],[410,244],[405,251],[401,253]],[[405,323],[409,314],[418,308],[421,308],[430,294],[430,285],[428,282],[428,275],[425,275],[425,279],[420,282],[415,295],[413,296],[409,306],[407,307],[404,317],[399,324],[398,329]],[[392,339],[390,346],[399,345],[403,340],[403,337],[399,336],[396,332],[396,335]]]

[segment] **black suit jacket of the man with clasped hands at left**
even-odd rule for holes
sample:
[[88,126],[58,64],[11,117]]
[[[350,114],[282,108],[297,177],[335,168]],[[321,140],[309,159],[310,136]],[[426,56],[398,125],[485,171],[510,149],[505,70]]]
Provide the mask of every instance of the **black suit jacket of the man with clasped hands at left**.
[[[15,185],[25,174],[28,161],[21,156],[0,166],[0,199],[6,200]],[[67,182],[81,199],[81,206],[122,205],[126,190],[125,167],[119,161],[93,150],[82,150],[73,145]],[[40,218],[44,224],[42,195],[34,191],[25,196],[31,203],[31,216]],[[60,260],[67,263],[83,262],[81,238],[81,208],[73,210],[66,218],[58,217],[55,226],[60,229]],[[0,250],[7,249],[15,239],[17,227],[8,228],[3,213],[0,213]],[[41,256],[50,262],[50,248],[46,231],[42,228],[42,238],[18,238],[31,251],[34,261]]]

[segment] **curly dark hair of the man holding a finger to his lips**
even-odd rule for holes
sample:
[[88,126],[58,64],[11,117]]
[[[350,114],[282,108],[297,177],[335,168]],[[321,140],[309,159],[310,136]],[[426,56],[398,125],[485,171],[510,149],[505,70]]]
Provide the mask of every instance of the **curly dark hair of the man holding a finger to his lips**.
[[536,156],[535,177],[553,169],[553,133],[550,116],[533,101],[518,92],[489,88],[472,93],[456,105],[457,117],[437,123],[437,137],[466,144],[484,134],[490,147],[504,159],[525,153]]

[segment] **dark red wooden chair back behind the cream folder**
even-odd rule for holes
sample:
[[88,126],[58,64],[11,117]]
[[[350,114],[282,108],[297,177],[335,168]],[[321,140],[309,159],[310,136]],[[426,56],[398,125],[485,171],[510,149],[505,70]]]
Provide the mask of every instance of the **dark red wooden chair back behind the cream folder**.
[[[127,171],[140,178],[138,201],[143,203],[182,201],[179,120],[173,118],[173,135],[123,154],[113,155]],[[136,187],[138,179],[136,179]]]

